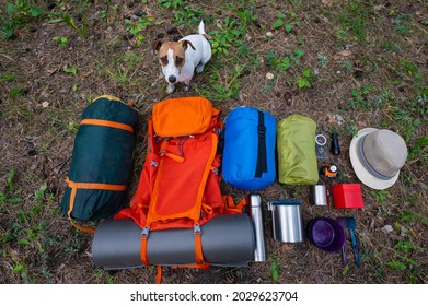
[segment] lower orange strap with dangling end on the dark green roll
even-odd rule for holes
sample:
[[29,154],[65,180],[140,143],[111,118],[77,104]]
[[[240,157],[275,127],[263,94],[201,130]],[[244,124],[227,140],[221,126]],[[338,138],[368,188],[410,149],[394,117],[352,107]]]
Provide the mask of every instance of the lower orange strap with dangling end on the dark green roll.
[[74,208],[76,195],[78,192],[78,189],[101,189],[101,190],[111,190],[111,191],[125,191],[127,189],[126,185],[114,185],[114,184],[102,184],[102,183],[79,183],[79,181],[72,181],[69,178],[66,178],[66,181],[68,184],[68,187],[71,188],[70,203],[67,212],[68,219],[72,226],[88,234],[95,233],[95,229],[92,227],[81,226],[76,222],[73,222],[71,217],[71,212]]

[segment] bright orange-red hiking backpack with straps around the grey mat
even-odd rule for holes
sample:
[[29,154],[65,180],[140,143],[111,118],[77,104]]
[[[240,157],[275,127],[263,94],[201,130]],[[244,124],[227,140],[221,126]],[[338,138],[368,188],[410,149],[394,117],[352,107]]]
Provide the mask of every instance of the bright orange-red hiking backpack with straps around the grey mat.
[[130,207],[115,219],[131,217],[141,228],[141,261],[149,266],[150,231],[194,228],[195,266],[209,267],[201,250],[200,226],[219,214],[242,213],[220,191],[222,132],[220,110],[203,97],[162,101],[148,123],[147,155]]

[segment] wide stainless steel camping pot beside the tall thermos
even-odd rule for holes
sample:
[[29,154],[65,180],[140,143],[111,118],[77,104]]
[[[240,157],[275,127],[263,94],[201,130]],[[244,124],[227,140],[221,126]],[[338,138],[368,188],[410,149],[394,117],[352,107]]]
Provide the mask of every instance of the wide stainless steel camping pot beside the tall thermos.
[[303,242],[303,220],[301,202],[280,200],[267,203],[271,211],[273,235],[281,243]]

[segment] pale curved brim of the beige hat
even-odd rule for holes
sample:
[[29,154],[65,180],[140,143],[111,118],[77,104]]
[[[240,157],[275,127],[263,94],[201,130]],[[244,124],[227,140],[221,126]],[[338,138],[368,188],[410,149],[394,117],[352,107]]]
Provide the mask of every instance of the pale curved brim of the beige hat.
[[400,172],[397,172],[397,174],[390,179],[380,179],[380,178],[373,176],[366,168],[366,166],[361,163],[360,157],[358,155],[358,141],[361,139],[361,137],[369,134],[371,132],[374,132],[377,130],[378,129],[373,129],[373,128],[366,128],[366,129],[359,130],[357,136],[354,137],[352,140],[350,141],[349,157],[350,157],[350,163],[352,164],[352,167],[354,167],[354,172],[356,173],[358,179],[362,184],[365,184],[373,189],[382,190],[382,189],[390,188],[391,186],[393,186],[395,184],[395,181],[398,179]]

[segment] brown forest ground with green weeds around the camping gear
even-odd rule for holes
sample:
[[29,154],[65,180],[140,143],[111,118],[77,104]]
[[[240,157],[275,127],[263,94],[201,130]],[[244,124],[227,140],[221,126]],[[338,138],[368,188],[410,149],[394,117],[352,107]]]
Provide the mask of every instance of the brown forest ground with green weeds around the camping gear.
[[[300,199],[305,222],[354,215],[360,269],[349,242],[346,268],[339,254],[308,240],[275,242],[266,211],[266,262],[164,269],[163,282],[426,283],[427,12],[426,1],[385,0],[0,1],[0,283],[154,282],[152,268],[95,267],[92,236],[59,211],[80,115],[102,94],[132,101],[140,115],[130,195],[146,122],[166,97],[201,95],[224,116],[250,105],[278,120],[311,117],[319,132],[339,133],[340,155],[320,161],[339,167],[337,183],[358,183],[348,145],[361,128],[392,129],[409,150],[392,188],[362,186],[362,210],[313,208],[306,186],[261,191],[264,202]],[[188,93],[178,86],[167,95],[152,44],[194,33],[200,19],[216,54]],[[222,188],[235,200],[246,195]]]

